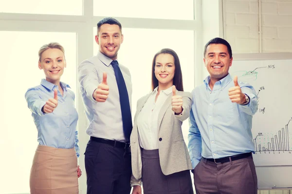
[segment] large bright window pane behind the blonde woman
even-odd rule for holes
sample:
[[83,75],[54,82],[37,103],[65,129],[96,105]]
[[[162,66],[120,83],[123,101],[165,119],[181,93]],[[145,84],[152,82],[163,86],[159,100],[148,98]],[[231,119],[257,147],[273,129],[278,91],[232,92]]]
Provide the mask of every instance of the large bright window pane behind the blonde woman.
[[[43,70],[37,67],[38,49],[58,42],[65,49],[67,68],[61,81],[68,83],[76,94],[76,34],[63,32],[0,32],[2,83],[1,192],[29,193],[30,169],[37,147],[37,128],[27,108],[24,94],[29,87],[40,84]],[[14,172],[14,173],[12,173]],[[16,176],[17,175],[17,176]],[[15,185],[17,183],[17,186]]]

